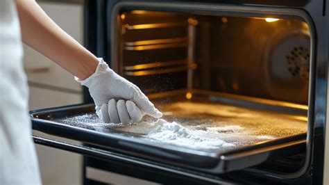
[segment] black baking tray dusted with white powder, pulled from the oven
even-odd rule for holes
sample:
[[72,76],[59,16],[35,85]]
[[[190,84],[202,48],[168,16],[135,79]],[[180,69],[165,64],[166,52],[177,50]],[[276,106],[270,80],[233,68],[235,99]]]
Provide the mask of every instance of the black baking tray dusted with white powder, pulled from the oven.
[[[307,116],[298,115],[298,111],[296,114],[260,111],[201,96],[155,102],[164,113],[164,120],[176,122],[187,130],[187,137],[198,140],[186,144],[181,137],[177,140],[167,135],[162,135],[167,140],[153,137],[158,134],[154,130],[159,126],[155,127],[152,122],[156,120],[149,117],[128,127],[101,123],[94,114],[93,104],[32,111],[31,118],[33,129],[46,134],[214,174],[305,152]],[[203,141],[208,145],[203,145]]]

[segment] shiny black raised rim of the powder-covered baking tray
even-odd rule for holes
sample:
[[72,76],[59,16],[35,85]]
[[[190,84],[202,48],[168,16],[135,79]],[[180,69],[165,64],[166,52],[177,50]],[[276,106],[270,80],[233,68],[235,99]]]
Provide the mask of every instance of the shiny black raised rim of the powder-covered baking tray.
[[[83,132],[84,134],[90,134],[90,136],[101,136],[103,138],[108,138],[109,140],[116,140],[116,141],[121,141],[121,142],[128,142],[128,143],[133,143],[133,144],[136,144],[136,145],[140,145],[140,146],[143,146],[143,147],[151,147],[151,148],[154,148],[154,149],[157,149],[157,150],[161,150],[161,151],[167,151],[167,152],[179,152],[179,153],[183,153],[183,154],[188,154],[188,155],[192,155],[192,156],[199,156],[199,157],[203,157],[203,158],[206,158],[208,159],[209,161],[213,161],[215,160],[216,163],[213,163],[213,166],[208,169],[210,171],[218,171],[219,169],[218,168],[221,168],[221,170],[219,170],[220,172],[217,172],[217,173],[223,173],[223,172],[228,172],[230,170],[227,170],[226,169],[223,169],[223,168],[226,168],[226,163],[227,162],[230,162],[230,160],[228,159],[233,159],[235,158],[235,156],[239,156],[241,154],[246,154],[246,156],[251,156],[250,154],[248,155],[248,153],[250,152],[254,152],[255,150],[260,150],[262,152],[258,152],[258,154],[271,154],[271,152],[275,152],[275,151],[278,151],[280,149],[285,149],[289,146],[296,146],[298,144],[301,144],[301,143],[306,143],[306,136],[307,136],[307,132],[306,133],[303,133],[303,134],[296,134],[294,136],[285,136],[285,137],[282,137],[282,138],[276,138],[274,140],[268,140],[268,141],[265,141],[265,142],[262,142],[262,143],[256,143],[254,145],[245,145],[245,146],[242,146],[242,147],[236,147],[236,148],[233,148],[232,150],[227,150],[226,152],[206,152],[206,151],[200,151],[200,150],[194,150],[194,149],[189,149],[189,148],[186,148],[186,147],[179,147],[179,146],[175,146],[175,145],[158,145],[158,143],[155,143],[151,140],[142,140],[140,138],[136,139],[136,138],[130,138],[130,137],[127,137],[127,136],[119,136],[117,134],[110,134],[110,133],[102,133],[102,132],[99,132],[99,131],[94,131],[94,130],[91,130],[91,129],[85,129],[85,128],[81,128],[81,127],[74,127],[74,126],[71,126],[71,125],[68,125],[68,124],[64,124],[64,123],[58,123],[58,122],[53,122],[51,120],[44,120],[44,119],[41,119],[41,118],[36,118],[37,115],[47,115],[49,113],[58,113],[58,112],[61,112],[61,111],[67,111],[67,110],[71,110],[72,108],[92,108],[94,106],[94,104],[77,104],[77,105],[69,105],[69,106],[60,106],[60,107],[55,107],[55,108],[44,108],[44,109],[40,109],[40,110],[35,110],[35,111],[31,111],[30,115],[31,115],[31,120],[33,122],[33,126],[35,123],[37,124],[47,124],[47,127],[58,127],[60,129],[73,129],[74,131],[81,131]],[[35,129],[33,127],[33,129]],[[35,129],[35,130],[38,130],[38,131],[42,131],[40,129]],[[47,131],[42,131],[46,134],[50,134],[50,135],[54,135],[54,136],[60,136],[60,137],[63,137],[63,138],[68,138],[68,137],[65,137],[65,136],[62,136],[60,134],[51,134],[51,133],[48,133]],[[71,138],[73,140],[77,140],[77,139],[74,139],[74,138]],[[80,140],[82,141],[82,140]],[[82,142],[85,142],[85,141],[82,141]],[[85,142],[85,143],[90,143],[90,142]],[[289,143],[288,146],[286,147],[280,147],[281,145],[287,145],[287,143]],[[106,146],[106,145],[103,145],[103,144],[96,144],[96,143],[90,143],[91,145],[96,145],[96,146],[99,146],[99,147],[107,147],[109,148],[109,146]],[[278,149],[276,149],[276,147],[279,147]],[[274,149],[273,149],[274,148]],[[115,150],[115,149],[113,149]],[[121,150],[116,150],[116,151],[119,151],[119,152],[123,152],[123,153],[126,153],[126,154],[130,154],[130,151],[121,151]],[[150,154],[149,154],[150,155]],[[140,157],[140,156],[144,156],[144,154],[141,154],[140,156],[137,154],[133,156],[137,156],[137,157]],[[237,159],[239,159],[239,157],[237,157]],[[155,160],[155,161],[160,161],[160,162],[164,162],[166,163],[166,159],[160,159],[160,160],[156,160],[156,157],[155,159],[152,158],[151,160]],[[172,162],[170,162],[172,163]],[[175,162],[174,162],[175,163]],[[177,164],[177,163],[176,163]],[[259,164],[259,163],[257,163]],[[257,165],[257,164],[254,164],[254,165]],[[181,164],[177,164],[178,166],[182,166]],[[221,166],[221,167],[220,167]],[[193,166],[190,166],[190,165],[184,165],[183,164],[183,167],[192,167],[194,168]]]

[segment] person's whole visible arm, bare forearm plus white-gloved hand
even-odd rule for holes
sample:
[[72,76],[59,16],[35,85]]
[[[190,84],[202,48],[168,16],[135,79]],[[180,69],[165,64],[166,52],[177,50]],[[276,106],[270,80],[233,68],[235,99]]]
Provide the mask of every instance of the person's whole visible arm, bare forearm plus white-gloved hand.
[[60,29],[33,0],[16,0],[22,29],[22,40],[47,56],[76,80],[87,86],[103,122],[138,122],[145,114],[159,118],[140,88],[110,70],[65,31]]

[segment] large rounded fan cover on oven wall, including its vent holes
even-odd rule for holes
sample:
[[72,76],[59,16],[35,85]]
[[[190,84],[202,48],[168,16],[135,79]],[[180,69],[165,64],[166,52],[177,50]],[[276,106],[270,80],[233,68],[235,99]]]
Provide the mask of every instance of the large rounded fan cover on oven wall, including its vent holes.
[[271,35],[264,51],[264,77],[273,99],[307,104],[310,33],[295,25]]

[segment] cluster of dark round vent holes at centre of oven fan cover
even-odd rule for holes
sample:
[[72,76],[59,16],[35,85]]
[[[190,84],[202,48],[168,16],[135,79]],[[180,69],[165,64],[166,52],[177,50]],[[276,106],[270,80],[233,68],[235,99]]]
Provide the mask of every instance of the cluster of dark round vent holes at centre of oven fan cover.
[[288,71],[294,77],[301,77],[308,81],[310,77],[310,49],[296,46],[286,56]]

